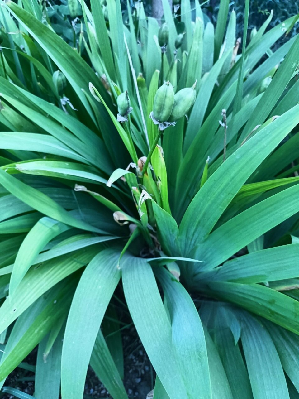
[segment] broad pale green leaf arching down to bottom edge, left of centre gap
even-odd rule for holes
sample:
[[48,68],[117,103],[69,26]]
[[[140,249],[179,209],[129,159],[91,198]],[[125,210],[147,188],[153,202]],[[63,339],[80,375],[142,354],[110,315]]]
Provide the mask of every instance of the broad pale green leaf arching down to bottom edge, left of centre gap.
[[[81,399],[92,348],[111,296],[120,279],[119,252],[98,253],[77,286],[63,339],[61,396]],[[82,340],[84,337],[84,340]]]

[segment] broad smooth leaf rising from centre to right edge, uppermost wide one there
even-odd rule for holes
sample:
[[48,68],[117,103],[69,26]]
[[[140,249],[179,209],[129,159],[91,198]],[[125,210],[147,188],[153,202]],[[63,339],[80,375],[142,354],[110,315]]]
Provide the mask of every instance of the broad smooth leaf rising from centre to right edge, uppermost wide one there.
[[[260,130],[210,176],[182,219],[179,237],[184,253],[192,253],[192,248],[207,238],[224,209],[248,177],[299,123],[298,111],[299,106],[296,106]],[[256,148],[259,148],[258,152],[255,151]],[[213,204],[212,211],[210,203]]]

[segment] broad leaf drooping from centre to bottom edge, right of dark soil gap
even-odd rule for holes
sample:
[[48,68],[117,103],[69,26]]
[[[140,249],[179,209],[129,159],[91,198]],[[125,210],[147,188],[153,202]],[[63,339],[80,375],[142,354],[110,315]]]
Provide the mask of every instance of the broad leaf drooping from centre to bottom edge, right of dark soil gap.
[[[122,284],[133,322],[149,359],[171,399],[186,398],[181,369],[175,356],[171,326],[153,271],[146,259],[123,257]],[[151,309],[145,312],[145,309]]]

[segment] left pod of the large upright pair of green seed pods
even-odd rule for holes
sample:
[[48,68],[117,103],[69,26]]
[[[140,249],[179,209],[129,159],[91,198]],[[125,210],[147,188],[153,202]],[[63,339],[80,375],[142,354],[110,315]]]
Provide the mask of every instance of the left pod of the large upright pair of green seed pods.
[[165,82],[159,87],[153,100],[153,117],[159,122],[165,122],[171,115],[174,91],[171,83]]

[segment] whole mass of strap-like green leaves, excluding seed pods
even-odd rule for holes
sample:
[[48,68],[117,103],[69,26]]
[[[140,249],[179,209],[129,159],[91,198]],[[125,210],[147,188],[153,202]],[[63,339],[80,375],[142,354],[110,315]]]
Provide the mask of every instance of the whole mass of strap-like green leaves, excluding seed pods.
[[[85,59],[39,3],[2,7],[2,392],[30,397],[4,385],[38,346],[35,398],[58,399],[61,381],[63,399],[82,399],[89,364],[127,398],[121,300],[157,373],[154,398],[297,398],[299,38],[269,51],[297,16],[267,33],[266,20],[237,53],[226,1],[214,30],[198,2],[191,23],[183,0],[175,51],[165,2],[162,69],[142,3],[123,25],[108,0],[108,30],[99,2],[81,4]],[[197,96],[149,156],[160,80],[176,92],[197,80]]]

